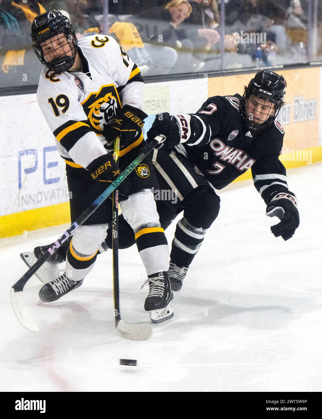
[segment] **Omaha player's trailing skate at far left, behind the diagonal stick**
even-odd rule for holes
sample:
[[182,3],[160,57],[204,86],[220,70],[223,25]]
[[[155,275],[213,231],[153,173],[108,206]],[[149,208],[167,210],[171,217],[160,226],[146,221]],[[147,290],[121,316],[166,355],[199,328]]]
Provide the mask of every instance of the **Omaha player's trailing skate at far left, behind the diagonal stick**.
[[[47,251],[49,246],[51,245],[35,247],[32,252],[20,253],[20,257],[30,268]],[[54,281],[57,277],[59,277],[58,265],[63,261],[64,259],[60,258],[60,256],[55,253],[50,256],[50,258],[47,259],[47,261],[35,272],[36,277],[43,284],[47,284],[49,281]]]

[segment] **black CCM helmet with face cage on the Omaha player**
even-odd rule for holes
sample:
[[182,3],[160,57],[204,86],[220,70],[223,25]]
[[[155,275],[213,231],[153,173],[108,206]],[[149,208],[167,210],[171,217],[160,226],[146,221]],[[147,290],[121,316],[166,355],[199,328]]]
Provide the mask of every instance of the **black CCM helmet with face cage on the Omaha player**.
[[[245,88],[241,99],[240,114],[247,128],[260,131],[274,121],[284,103],[285,88],[286,81],[282,75],[278,75],[270,70],[260,70],[256,73],[255,77],[250,80],[247,88]],[[249,101],[251,96],[252,100]],[[255,110],[258,99],[264,101],[261,101],[261,104],[265,109],[260,111],[260,116],[254,118],[253,111],[258,113]],[[272,103],[274,104],[273,107]],[[271,109],[274,112],[267,118],[267,114]],[[259,121],[264,122],[260,123]]]

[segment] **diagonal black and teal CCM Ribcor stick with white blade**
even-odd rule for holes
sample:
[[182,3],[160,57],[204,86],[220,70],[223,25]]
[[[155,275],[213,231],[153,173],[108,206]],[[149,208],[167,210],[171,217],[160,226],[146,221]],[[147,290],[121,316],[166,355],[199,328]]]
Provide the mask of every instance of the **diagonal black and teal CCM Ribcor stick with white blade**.
[[96,208],[98,208],[101,203],[104,202],[105,199],[107,199],[109,195],[115,191],[115,189],[117,189],[117,186],[125,178],[127,178],[127,176],[129,176],[129,174],[136,168],[136,166],[138,166],[138,164],[145,158],[145,156],[147,156],[150,151],[153,150],[154,147],[158,145],[158,148],[161,148],[163,146],[164,140],[164,135],[158,135],[146,147],[144,147],[138,157],[135,158],[129,166],[127,166],[127,168],[120,174],[118,178],[115,179],[115,181],[103,192],[103,194],[101,194],[93,202],[93,204],[91,204],[91,206],[88,207],[88,209],[86,209],[86,211],[84,211],[83,214],[80,215],[75,222],[73,222],[73,224],[65,231],[65,233],[60,236],[60,238],[57,239],[57,241],[55,241],[54,246],[49,247],[49,249],[34,263],[34,265],[32,265],[28,271],[23,274],[23,276],[18,279],[18,281],[11,287],[10,297],[13,311],[15,312],[19,323],[21,323],[23,327],[34,332],[39,331],[39,328],[30,316],[26,303],[23,299],[23,288],[32,277],[32,275],[47,261],[47,259],[50,258],[50,256],[52,256],[60,248],[62,243],[64,243],[74,233],[74,231],[80,225],[82,225],[85,220],[87,220],[87,218],[96,210]]

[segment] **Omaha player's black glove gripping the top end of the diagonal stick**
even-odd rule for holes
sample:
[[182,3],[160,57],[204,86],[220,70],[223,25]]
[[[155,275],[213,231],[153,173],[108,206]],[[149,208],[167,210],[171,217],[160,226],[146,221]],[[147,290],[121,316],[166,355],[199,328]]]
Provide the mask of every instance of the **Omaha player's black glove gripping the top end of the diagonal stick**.
[[180,132],[177,120],[168,112],[157,114],[152,127],[148,130],[148,140],[153,140],[159,134],[166,136],[164,148],[173,148],[180,143]]

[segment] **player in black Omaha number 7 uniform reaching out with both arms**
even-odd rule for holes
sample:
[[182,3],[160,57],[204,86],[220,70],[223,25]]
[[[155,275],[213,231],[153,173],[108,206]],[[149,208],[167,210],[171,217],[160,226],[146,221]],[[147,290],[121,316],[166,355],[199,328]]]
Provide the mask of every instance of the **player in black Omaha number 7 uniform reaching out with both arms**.
[[[288,190],[286,170],[278,159],[284,130],[276,116],[285,88],[283,76],[261,70],[242,97],[213,96],[195,114],[156,116],[148,137],[166,135],[168,150],[154,151],[154,169],[161,189],[171,188],[178,198],[177,204],[156,201],[161,226],[167,228],[183,211],[170,254],[172,290],[181,289],[189,265],[218,216],[220,199],[215,189],[230,184],[248,168],[267,205],[266,215],[280,219],[271,227],[275,237],[288,240],[299,226],[297,200]],[[134,243],[130,225],[119,217],[120,248]],[[104,247],[111,247],[109,234]]]

